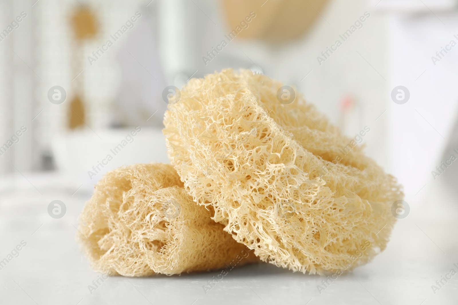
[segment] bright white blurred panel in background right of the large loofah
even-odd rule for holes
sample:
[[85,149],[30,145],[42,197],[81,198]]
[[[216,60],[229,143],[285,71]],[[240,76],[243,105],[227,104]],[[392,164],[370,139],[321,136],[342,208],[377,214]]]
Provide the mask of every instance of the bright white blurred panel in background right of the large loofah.
[[412,201],[421,201],[422,194],[438,183],[431,171],[445,156],[458,156],[453,151],[458,147],[444,151],[458,117],[458,46],[443,52],[438,62],[431,59],[438,58],[436,52],[450,41],[458,43],[454,35],[458,35],[457,12],[390,19],[390,88],[402,85],[410,91],[407,103],[390,103],[390,158],[393,172]]

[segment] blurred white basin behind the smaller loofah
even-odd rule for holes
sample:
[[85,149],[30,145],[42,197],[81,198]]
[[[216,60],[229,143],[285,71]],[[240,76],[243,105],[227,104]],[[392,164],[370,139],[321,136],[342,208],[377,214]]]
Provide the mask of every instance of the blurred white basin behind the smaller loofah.
[[57,169],[89,191],[105,172],[116,167],[169,163],[165,138],[159,128],[142,127],[140,132],[134,127],[69,132],[55,137],[52,148]]

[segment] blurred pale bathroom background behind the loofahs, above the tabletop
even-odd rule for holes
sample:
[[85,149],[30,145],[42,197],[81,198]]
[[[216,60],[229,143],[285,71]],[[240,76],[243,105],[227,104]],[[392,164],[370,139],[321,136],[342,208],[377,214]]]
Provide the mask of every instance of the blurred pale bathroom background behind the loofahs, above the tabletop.
[[0,189],[90,194],[107,170],[168,162],[164,88],[232,67],[294,86],[350,137],[368,126],[367,154],[421,203],[457,177],[436,170],[458,156],[457,17],[456,0],[0,0]]

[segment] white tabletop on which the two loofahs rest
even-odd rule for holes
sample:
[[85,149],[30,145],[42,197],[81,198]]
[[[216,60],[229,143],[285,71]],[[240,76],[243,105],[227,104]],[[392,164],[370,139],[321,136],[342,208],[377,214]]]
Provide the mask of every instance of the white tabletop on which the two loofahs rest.
[[[58,174],[24,176],[0,179],[0,260],[27,242],[0,270],[0,304],[458,304],[458,274],[436,294],[431,289],[450,269],[458,271],[457,195],[438,183],[410,203],[384,252],[321,294],[322,277],[267,263],[231,270],[207,294],[202,286],[220,272],[114,276],[91,294],[88,285],[100,274],[75,242],[77,217],[90,194],[74,193],[79,185]],[[61,219],[47,213],[55,199],[67,207]]]

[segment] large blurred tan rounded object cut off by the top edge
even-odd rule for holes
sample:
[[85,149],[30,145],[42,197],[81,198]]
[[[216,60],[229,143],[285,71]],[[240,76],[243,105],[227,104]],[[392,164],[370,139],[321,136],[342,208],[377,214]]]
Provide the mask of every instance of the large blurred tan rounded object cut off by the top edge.
[[[250,14],[256,17],[238,36],[269,43],[298,39],[320,16],[328,0],[222,0],[230,30]],[[261,6],[262,5],[262,6]]]

